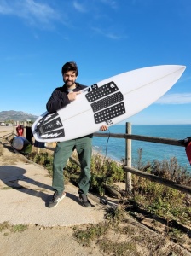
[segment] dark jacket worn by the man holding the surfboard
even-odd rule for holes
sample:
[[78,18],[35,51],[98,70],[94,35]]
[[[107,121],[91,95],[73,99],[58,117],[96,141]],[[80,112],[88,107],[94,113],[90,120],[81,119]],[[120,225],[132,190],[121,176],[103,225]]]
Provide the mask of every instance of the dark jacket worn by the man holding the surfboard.
[[[87,86],[76,83],[76,88],[73,91],[83,90],[85,87]],[[49,113],[55,113],[58,109],[70,104],[67,94],[67,86],[65,84],[62,87],[55,88],[46,104],[47,111]]]

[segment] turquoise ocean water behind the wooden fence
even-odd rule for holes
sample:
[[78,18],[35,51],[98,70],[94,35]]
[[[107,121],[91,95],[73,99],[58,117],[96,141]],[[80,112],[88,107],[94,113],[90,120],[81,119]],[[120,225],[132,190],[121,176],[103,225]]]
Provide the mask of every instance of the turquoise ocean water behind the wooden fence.
[[[163,137],[181,140],[191,136],[191,125],[132,125],[131,133],[150,137]],[[109,127],[111,133],[125,133],[124,125],[113,125]],[[107,141],[108,140],[108,141]],[[104,156],[112,160],[121,161],[125,157],[125,140],[124,138],[94,137],[93,148]],[[107,151],[106,151],[107,148]],[[132,166],[138,158],[137,151],[142,148],[142,163],[153,162],[153,160],[170,160],[172,157],[177,158],[180,166],[188,168],[188,158],[184,147],[171,146],[159,143],[148,143],[132,140]]]

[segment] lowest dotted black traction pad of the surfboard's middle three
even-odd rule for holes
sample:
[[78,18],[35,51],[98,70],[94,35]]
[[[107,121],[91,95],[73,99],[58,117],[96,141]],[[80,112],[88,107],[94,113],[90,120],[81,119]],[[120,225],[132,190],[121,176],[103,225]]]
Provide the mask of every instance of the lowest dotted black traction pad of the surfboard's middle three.
[[100,124],[102,122],[107,122],[110,119],[116,118],[124,113],[124,102],[120,102],[119,104],[113,105],[110,108],[106,108],[98,113],[95,113],[94,119],[96,124]]

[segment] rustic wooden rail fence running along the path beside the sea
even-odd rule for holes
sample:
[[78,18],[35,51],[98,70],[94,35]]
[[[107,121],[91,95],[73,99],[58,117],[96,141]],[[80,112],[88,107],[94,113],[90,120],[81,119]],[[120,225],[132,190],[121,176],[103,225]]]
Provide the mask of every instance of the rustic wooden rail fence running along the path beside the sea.
[[[26,122],[19,123],[16,122],[14,125],[22,124],[24,127],[27,124]],[[14,128],[15,129],[15,128]],[[15,130],[14,130],[15,131]],[[16,132],[14,132],[16,134]],[[25,131],[24,131],[25,136]],[[162,144],[168,144],[172,146],[178,146],[178,147],[184,147],[183,143],[176,139],[169,139],[169,138],[162,138],[162,137],[148,137],[148,136],[141,136],[141,135],[134,135],[131,134],[131,124],[126,123],[126,133],[107,133],[107,132],[96,132],[94,133],[95,137],[114,137],[114,138],[124,138],[125,142],[125,160],[124,160],[124,172],[125,172],[125,190],[127,193],[131,192],[132,184],[131,184],[131,174],[136,174],[137,176],[147,178],[148,180],[155,182],[155,183],[161,183],[165,186],[171,187],[173,189],[180,190],[184,193],[191,194],[191,188],[188,186],[184,186],[179,183],[172,182],[170,180],[158,177],[156,175],[142,172],[140,170],[137,170],[135,168],[132,168],[131,166],[131,140],[137,140],[137,141],[144,141],[149,143],[162,143]],[[49,150],[54,150],[54,148],[46,147]],[[75,160],[73,157],[70,158],[72,161],[74,161],[76,164],[80,166],[80,163],[78,160]]]

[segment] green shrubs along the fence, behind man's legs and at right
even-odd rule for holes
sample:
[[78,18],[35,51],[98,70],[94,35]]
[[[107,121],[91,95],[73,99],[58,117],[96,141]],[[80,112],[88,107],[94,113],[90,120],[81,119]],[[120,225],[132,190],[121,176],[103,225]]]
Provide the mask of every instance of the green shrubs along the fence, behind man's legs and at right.
[[[186,168],[178,165],[177,159],[153,161],[153,164],[142,164],[142,150],[138,152],[138,164],[143,172],[153,173],[159,177],[170,179],[178,183],[191,183],[191,174]],[[29,156],[28,156],[29,157]],[[77,157],[77,156],[76,156]],[[52,175],[53,156],[48,153],[30,154],[30,160],[44,166]],[[65,182],[71,182],[78,186],[80,167],[69,160],[64,170]],[[94,154],[91,159],[91,183],[90,192],[104,195],[104,184],[113,185],[115,182],[124,182],[124,170],[121,165],[113,160],[104,158],[101,154]],[[191,203],[186,200],[186,195],[176,189],[154,183],[146,178],[132,175],[133,194],[126,198],[136,207],[156,214],[166,219],[176,218],[181,223],[188,223],[190,219]]]

